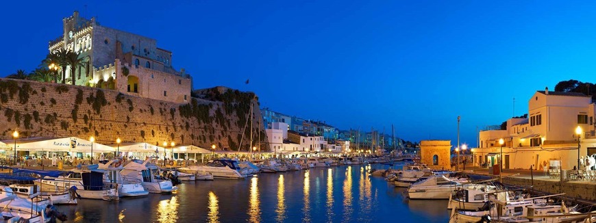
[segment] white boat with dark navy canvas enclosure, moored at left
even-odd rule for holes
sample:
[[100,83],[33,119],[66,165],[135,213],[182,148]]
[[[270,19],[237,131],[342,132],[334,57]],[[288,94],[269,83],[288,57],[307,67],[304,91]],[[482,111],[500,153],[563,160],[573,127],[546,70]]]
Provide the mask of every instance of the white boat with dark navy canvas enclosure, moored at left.
[[42,191],[66,191],[73,187],[77,198],[118,200],[118,190],[103,183],[102,170],[71,170],[66,176],[44,176],[35,181]]

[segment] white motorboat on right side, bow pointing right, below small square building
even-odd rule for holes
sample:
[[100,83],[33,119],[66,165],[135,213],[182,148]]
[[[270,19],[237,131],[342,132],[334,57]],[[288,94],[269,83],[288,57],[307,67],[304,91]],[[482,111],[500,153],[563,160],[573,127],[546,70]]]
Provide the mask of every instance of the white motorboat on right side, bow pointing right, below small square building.
[[458,187],[474,187],[475,184],[462,185],[443,175],[432,175],[423,181],[412,183],[408,187],[410,199],[449,199]]

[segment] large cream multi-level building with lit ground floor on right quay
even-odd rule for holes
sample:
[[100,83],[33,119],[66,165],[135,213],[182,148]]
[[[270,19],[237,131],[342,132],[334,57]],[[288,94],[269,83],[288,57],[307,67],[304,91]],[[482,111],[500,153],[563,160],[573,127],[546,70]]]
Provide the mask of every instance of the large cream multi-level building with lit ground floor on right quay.
[[[536,91],[528,101],[528,118],[510,118],[506,130],[481,131],[475,163],[499,163],[503,168],[530,166],[573,169],[578,156],[596,153],[595,104],[591,96],[575,92]],[[578,135],[575,130],[582,130]],[[582,142],[578,155],[578,137]],[[501,153],[499,140],[504,140]]]

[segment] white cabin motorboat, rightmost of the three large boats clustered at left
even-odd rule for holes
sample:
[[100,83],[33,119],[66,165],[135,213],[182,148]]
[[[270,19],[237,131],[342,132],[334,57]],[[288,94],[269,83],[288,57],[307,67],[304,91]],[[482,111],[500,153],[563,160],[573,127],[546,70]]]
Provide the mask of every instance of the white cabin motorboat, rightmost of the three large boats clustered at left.
[[160,175],[160,168],[149,163],[149,159],[142,163],[139,160],[134,160],[126,164],[120,174],[126,179],[137,179],[149,193],[171,193],[178,189],[172,181]]

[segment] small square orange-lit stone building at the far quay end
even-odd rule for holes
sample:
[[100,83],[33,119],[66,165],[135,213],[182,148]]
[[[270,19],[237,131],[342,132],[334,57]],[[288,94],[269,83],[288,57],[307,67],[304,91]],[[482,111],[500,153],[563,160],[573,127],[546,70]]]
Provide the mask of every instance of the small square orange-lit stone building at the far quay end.
[[420,159],[430,168],[449,170],[451,168],[451,140],[422,140]]

